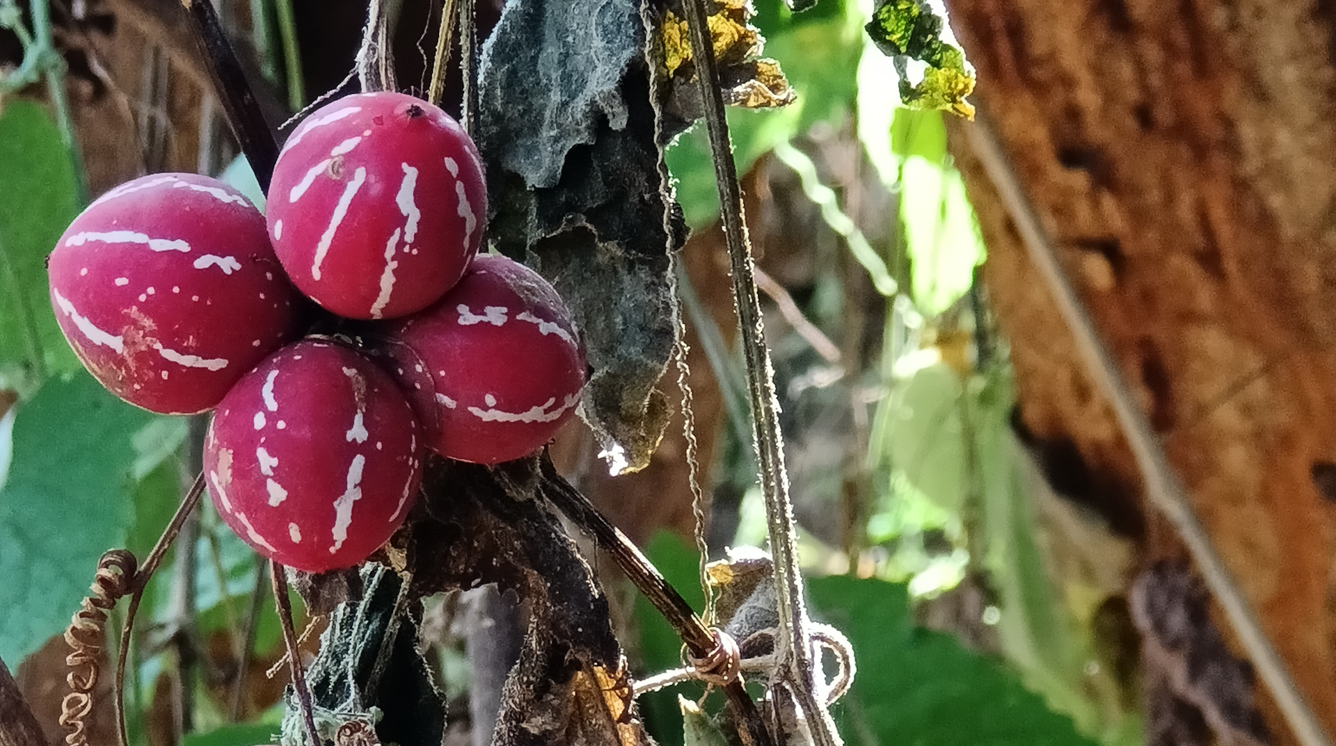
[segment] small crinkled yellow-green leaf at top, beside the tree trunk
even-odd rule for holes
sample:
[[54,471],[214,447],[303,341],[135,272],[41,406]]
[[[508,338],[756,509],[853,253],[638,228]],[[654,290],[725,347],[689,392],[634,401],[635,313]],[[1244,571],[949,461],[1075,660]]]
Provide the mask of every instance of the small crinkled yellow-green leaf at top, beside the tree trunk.
[[[900,101],[910,108],[949,111],[974,119],[965,100],[974,91],[974,67],[951,37],[946,8],[930,0],[878,0],[864,27],[876,47],[895,60]],[[911,81],[910,60],[922,63]]]

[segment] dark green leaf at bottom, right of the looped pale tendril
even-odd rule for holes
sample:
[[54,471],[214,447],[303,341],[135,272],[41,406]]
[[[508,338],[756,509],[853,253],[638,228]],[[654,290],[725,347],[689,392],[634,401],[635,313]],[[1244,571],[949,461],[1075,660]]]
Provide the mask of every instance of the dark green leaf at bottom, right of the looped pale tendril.
[[915,629],[904,586],[830,577],[808,593],[814,614],[854,646],[859,673],[835,706],[851,746],[1092,746],[1009,670]]

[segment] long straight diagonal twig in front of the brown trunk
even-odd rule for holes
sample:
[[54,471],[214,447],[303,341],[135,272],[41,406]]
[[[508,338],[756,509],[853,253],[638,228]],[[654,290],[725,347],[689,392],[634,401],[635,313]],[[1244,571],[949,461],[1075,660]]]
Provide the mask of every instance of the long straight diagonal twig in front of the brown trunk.
[[1267,637],[1261,622],[1238,589],[1238,583],[1220,552],[1216,551],[1210,535],[1201,524],[1201,519],[1188,498],[1188,491],[1169,463],[1158,436],[1137,406],[1137,399],[1132,394],[1118,363],[1105,346],[1094,320],[1067,278],[1058,259],[1058,248],[1021,185],[1021,179],[1007,159],[990,120],[982,112],[978,113],[974,125],[969,127],[967,132],[975,156],[983,164],[989,179],[993,180],[998,196],[1006,206],[1029,250],[1030,260],[1047,282],[1058,311],[1075,338],[1077,351],[1085,359],[1086,367],[1113,406],[1118,424],[1128,438],[1128,446],[1132,448],[1145,482],[1146,496],[1178,531],[1178,536],[1186,544],[1206,581],[1206,586],[1238,634],[1238,641],[1248,651],[1248,657],[1252,658],[1263,681],[1267,682],[1267,687],[1284,713],[1295,737],[1304,746],[1331,746],[1317,715],[1304,699],[1285,662],[1276,651],[1271,638]]

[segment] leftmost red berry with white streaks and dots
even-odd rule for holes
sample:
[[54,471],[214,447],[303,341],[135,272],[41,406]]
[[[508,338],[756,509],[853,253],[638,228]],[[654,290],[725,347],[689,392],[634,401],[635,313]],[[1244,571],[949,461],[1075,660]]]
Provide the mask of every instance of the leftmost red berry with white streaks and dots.
[[299,296],[265,218],[216,179],[155,173],[108,191],[69,224],[47,270],[84,367],[154,412],[212,408],[295,332]]

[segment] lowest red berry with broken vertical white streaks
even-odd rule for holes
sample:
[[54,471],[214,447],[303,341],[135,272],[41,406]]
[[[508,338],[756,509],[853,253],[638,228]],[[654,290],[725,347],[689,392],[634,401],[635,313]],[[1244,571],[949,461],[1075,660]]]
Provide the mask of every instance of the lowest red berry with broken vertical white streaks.
[[394,379],[354,350],[303,340],[227,394],[204,439],[223,520],[289,567],[351,567],[403,522],[422,476],[418,426]]

